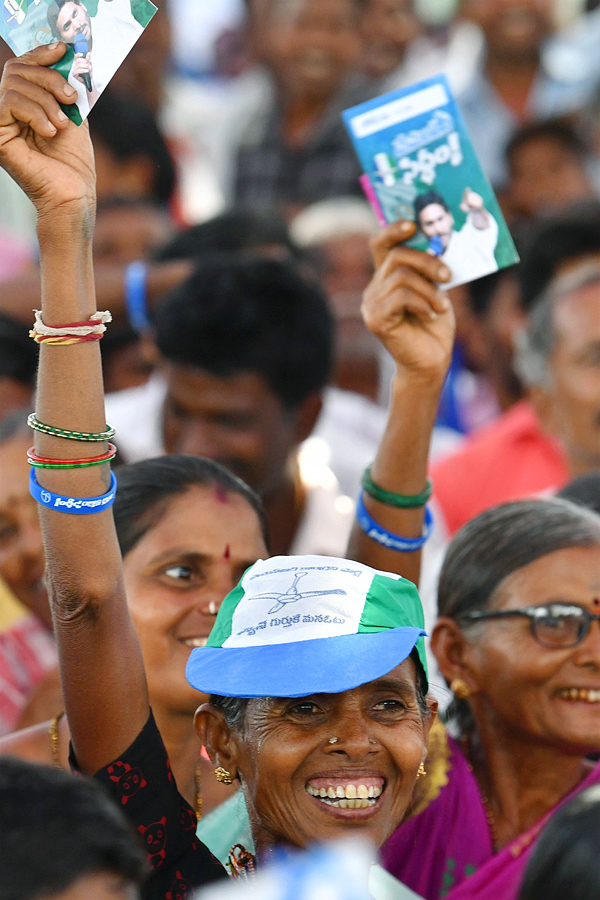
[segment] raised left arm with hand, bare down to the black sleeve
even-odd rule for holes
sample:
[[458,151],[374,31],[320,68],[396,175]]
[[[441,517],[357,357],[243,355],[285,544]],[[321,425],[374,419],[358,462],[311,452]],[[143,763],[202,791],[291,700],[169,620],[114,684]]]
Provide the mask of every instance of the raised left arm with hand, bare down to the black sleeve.
[[[45,68],[64,51],[57,44],[11,60],[0,83],[0,163],[37,210],[42,319],[53,327],[87,322],[96,310],[92,146],[87,125],[78,128],[60,110],[58,101],[73,102],[72,88]],[[40,346],[36,415],[54,428],[105,431],[98,343]],[[107,450],[106,442],[35,433],[43,458],[70,461]],[[110,466],[36,468],[35,474],[45,489],[40,513],[65,705],[80,768],[94,772],[132,743],[148,717],[144,668],[110,510],[72,515],[45,504],[56,505],[47,492],[106,494]]]

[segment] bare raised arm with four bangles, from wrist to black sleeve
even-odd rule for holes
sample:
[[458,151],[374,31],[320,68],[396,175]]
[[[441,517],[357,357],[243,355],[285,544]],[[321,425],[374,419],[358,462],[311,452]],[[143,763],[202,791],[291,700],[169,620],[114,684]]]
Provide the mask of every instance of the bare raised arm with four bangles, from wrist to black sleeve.
[[[95,311],[92,211],[40,221],[42,315],[46,325],[83,322]],[[75,431],[105,429],[99,344],[40,347],[36,414]],[[106,444],[35,434],[41,456],[99,455]],[[106,493],[108,465],[38,469],[57,494]],[[125,604],[112,514],[72,516],[41,509],[47,580],[61,661],[63,695],[80,767],[95,771],[133,741],[148,714],[141,655]]]

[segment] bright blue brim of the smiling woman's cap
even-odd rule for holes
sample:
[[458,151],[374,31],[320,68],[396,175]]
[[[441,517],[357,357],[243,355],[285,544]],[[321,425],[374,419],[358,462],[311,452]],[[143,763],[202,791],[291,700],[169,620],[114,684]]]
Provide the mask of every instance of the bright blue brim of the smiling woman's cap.
[[289,644],[199,647],[186,676],[197,690],[223,697],[339,694],[391,672],[425,634],[407,626]]

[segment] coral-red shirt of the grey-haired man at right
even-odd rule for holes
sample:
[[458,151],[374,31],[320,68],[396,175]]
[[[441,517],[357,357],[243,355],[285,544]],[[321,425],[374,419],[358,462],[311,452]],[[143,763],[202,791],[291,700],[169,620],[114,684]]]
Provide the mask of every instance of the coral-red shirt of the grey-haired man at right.
[[452,537],[490,506],[559,490],[570,474],[564,451],[522,400],[444,457],[431,478]]

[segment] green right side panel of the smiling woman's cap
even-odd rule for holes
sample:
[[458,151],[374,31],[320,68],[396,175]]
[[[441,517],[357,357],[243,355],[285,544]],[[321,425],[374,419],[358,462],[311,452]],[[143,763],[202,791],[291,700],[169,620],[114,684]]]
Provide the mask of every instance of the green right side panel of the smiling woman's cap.
[[[425,629],[425,618],[419,592],[412,581],[407,581],[405,578],[392,581],[386,575],[375,575],[365,600],[358,633],[372,634],[403,626]],[[425,671],[425,677],[429,681],[425,641],[422,637],[418,639],[416,649]]]

